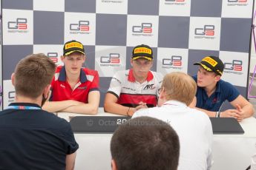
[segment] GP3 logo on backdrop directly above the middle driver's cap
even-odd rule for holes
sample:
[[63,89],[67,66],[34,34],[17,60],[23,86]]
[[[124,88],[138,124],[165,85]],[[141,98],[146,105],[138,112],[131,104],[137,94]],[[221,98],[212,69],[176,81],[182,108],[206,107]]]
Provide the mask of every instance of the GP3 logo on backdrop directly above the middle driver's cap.
[[152,36],[152,23],[143,22],[140,25],[132,27],[132,35],[135,36]]

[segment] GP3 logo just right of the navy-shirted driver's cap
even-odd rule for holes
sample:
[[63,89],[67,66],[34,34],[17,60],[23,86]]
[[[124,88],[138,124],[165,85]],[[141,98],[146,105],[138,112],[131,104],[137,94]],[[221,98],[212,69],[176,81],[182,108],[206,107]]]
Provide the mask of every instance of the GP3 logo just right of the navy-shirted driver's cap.
[[243,74],[243,61],[240,60],[232,60],[231,63],[224,63],[224,71],[226,73],[233,73],[236,75]]

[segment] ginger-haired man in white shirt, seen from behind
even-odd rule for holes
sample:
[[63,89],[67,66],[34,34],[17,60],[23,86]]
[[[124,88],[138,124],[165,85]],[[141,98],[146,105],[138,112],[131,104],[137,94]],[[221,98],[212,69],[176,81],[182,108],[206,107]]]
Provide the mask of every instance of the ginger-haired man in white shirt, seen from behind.
[[132,117],[149,116],[170,123],[180,138],[179,170],[211,169],[211,121],[204,112],[188,107],[196,90],[190,75],[168,73],[160,89],[159,107],[141,109]]

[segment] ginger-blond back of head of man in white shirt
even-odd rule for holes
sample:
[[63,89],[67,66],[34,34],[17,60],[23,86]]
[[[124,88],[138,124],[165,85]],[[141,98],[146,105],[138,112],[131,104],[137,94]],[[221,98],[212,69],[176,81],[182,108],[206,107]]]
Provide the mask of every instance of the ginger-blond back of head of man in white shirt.
[[175,100],[188,106],[197,92],[197,84],[184,72],[171,72],[163,78],[162,88],[167,101]]

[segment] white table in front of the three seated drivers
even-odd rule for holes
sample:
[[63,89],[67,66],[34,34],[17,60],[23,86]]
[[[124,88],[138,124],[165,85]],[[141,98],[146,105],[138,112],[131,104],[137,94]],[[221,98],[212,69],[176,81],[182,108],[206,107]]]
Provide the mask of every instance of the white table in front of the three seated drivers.
[[[88,116],[67,112],[58,112],[60,118],[70,120],[73,116]],[[102,108],[95,116],[118,116],[106,113]],[[252,154],[256,153],[256,119],[246,118],[240,125],[243,135],[214,135],[212,170],[232,169],[245,170]],[[110,141],[112,134],[76,134],[79,149],[76,154],[76,170],[82,169],[111,169]],[[193,143],[191,143],[191,147]]]

